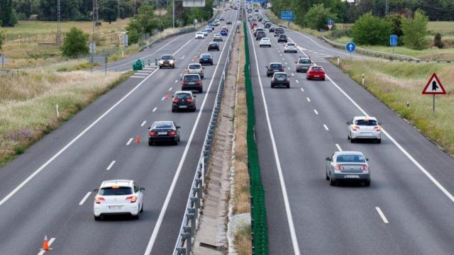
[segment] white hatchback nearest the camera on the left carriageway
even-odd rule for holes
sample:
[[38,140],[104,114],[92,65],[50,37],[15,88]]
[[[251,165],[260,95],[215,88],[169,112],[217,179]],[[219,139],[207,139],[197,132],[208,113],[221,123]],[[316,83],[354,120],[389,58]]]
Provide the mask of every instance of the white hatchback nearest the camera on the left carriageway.
[[135,181],[103,181],[94,192],[94,220],[101,220],[103,215],[126,214],[138,220],[143,212],[143,191]]

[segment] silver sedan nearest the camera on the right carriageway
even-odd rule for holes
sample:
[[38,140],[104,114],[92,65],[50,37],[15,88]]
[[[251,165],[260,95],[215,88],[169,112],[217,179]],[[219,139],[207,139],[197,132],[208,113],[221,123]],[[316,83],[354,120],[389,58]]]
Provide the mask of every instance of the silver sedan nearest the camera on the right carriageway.
[[331,186],[339,181],[358,181],[370,186],[370,170],[362,152],[334,152],[326,158],[326,180]]

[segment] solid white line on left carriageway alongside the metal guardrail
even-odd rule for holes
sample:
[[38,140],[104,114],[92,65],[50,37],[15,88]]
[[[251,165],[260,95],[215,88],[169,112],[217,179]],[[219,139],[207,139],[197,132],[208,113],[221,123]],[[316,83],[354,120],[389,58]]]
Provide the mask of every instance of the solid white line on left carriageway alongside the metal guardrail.
[[[238,13],[237,13],[237,16],[238,16]],[[231,33],[228,34],[228,38],[230,38],[230,36],[231,36]],[[227,38],[227,40],[228,40],[228,38]],[[223,52],[226,49],[226,45],[227,45],[227,43],[224,44],[223,47],[222,47],[221,56],[223,55]],[[216,71],[218,70],[219,63],[221,62],[221,59],[222,59],[222,57],[218,58],[218,63],[216,64],[216,68],[214,69],[214,74],[216,74]],[[210,84],[208,86],[208,89],[206,89],[207,93],[205,94],[204,101],[201,103],[200,111],[197,114],[196,122],[194,123],[194,127],[192,128],[191,135],[189,135],[189,140],[187,141],[187,145],[186,145],[186,147],[184,147],[184,152],[183,152],[182,158],[179,161],[179,164],[178,164],[178,167],[177,167],[177,171],[175,172],[175,176],[174,176],[174,178],[172,180],[172,184],[170,184],[170,188],[169,188],[169,191],[167,192],[167,196],[165,197],[164,204],[162,205],[162,208],[161,208],[161,211],[159,213],[159,216],[157,217],[155,228],[153,229],[153,233],[151,234],[150,241],[148,242],[147,249],[145,249],[144,255],[150,255],[151,254],[151,250],[153,249],[153,245],[155,244],[157,233],[159,232],[159,229],[160,229],[161,224],[162,224],[162,219],[164,218],[165,212],[167,211],[167,207],[169,206],[169,203],[170,203],[170,198],[172,198],[173,191],[175,190],[175,186],[177,185],[179,174],[182,171],[184,160],[187,157],[187,152],[189,151],[189,147],[191,146],[192,138],[194,137],[194,134],[196,132],[197,125],[199,125],[199,120],[200,120],[200,117],[201,117],[201,113],[204,110],[204,106],[205,106],[205,103],[206,103],[206,98],[208,98],[208,95],[209,95],[208,91],[210,91],[211,85],[213,85],[213,81],[214,81],[214,75],[211,78],[211,81],[210,81]]]

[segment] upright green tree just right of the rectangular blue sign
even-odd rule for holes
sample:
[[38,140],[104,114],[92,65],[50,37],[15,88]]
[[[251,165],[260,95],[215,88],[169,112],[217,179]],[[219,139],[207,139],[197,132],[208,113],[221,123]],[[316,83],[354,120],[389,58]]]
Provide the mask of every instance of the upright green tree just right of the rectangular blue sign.
[[414,50],[423,50],[427,48],[427,24],[428,18],[421,10],[416,11],[413,19],[404,18],[402,21],[404,45]]

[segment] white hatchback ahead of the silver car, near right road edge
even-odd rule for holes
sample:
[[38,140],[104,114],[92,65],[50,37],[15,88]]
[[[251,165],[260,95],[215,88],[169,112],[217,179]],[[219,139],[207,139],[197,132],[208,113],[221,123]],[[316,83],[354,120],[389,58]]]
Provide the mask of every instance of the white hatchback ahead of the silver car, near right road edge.
[[377,118],[370,116],[356,116],[348,123],[348,139],[355,142],[357,139],[375,140],[377,143],[382,142],[382,130]]

